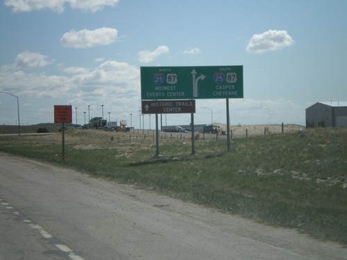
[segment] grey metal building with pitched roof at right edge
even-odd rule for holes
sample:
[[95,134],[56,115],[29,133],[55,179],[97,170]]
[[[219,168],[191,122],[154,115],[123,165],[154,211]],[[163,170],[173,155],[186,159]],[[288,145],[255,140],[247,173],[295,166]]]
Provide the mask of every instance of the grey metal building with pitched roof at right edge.
[[317,102],[306,108],[306,128],[347,126],[347,102]]

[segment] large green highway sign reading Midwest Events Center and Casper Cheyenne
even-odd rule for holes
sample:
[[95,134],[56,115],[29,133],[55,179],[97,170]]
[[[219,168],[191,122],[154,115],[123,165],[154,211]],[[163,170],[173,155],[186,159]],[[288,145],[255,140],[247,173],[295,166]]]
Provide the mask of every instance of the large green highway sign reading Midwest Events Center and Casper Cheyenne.
[[141,99],[244,98],[243,66],[141,67]]

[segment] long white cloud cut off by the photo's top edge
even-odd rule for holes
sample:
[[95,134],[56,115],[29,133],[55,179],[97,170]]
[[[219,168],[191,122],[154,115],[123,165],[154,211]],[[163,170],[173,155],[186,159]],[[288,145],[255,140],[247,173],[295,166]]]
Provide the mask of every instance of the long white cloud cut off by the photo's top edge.
[[13,12],[31,12],[35,10],[53,10],[61,13],[65,10],[65,3],[74,9],[96,12],[104,6],[116,6],[119,0],[6,0],[5,5]]

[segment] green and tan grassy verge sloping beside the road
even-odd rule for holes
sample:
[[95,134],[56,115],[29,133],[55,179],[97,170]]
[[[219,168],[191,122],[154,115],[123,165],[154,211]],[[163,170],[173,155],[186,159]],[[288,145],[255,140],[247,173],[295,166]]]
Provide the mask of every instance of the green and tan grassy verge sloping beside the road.
[[[110,141],[110,136],[115,140]],[[347,245],[347,129],[224,140],[155,139],[92,130],[0,137],[0,150],[215,207]]]

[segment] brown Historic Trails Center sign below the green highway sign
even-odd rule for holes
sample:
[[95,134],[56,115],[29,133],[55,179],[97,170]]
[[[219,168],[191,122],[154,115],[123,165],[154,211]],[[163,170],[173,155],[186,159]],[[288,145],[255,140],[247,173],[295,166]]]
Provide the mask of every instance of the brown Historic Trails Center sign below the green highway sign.
[[142,101],[142,114],[195,113],[195,100]]

